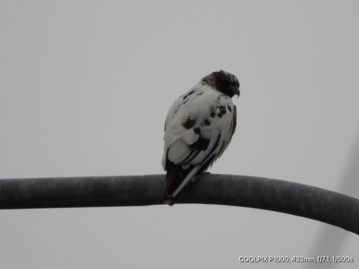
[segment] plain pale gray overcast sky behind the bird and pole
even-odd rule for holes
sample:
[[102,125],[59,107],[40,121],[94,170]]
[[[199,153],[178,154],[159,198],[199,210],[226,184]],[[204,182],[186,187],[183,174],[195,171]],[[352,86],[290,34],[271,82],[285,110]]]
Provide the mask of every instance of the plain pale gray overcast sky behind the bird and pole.
[[[358,14],[358,1],[1,1],[0,178],[164,173],[169,107],[223,69],[241,83],[238,125],[211,173],[359,198],[341,188],[359,140]],[[238,258],[311,257],[328,226],[194,204],[0,220],[0,268],[40,269],[319,268]],[[358,236],[330,231],[328,244],[346,236],[333,255],[354,258],[337,268],[357,268]]]

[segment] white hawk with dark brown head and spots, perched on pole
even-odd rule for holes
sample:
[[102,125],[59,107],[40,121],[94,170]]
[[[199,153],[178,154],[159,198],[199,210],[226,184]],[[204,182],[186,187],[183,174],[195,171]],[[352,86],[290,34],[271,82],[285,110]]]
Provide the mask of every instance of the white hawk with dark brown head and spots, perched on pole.
[[237,77],[219,70],[203,77],[172,104],[163,137],[164,204],[173,206],[183,187],[226,150],[237,125],[232,97],[239,94]]

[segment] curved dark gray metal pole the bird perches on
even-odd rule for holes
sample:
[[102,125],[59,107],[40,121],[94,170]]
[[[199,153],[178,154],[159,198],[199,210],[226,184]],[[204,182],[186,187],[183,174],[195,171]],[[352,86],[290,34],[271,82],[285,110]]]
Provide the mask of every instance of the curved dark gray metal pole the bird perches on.
[[[0,209],[162,204],[165,175],[1,179]],[[178,203],[222,204],[311,218],[359,234],[359,200],[290,181],[202,174]]]

